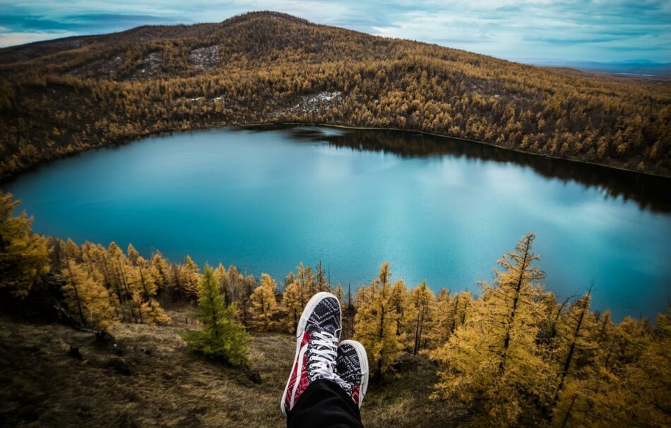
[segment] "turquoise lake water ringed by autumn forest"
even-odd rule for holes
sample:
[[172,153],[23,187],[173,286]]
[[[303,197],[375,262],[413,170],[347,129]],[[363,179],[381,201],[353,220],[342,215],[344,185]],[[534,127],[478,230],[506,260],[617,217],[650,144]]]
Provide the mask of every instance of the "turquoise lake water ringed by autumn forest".
[[413,133],[333,128],[160,135],[54,161],[4,183],[34,228],[283,279],[322,260],[352,288],[391,262],[434,290],[492,279],[525,233],[547,288],[594,282],[616,318],[665,310],[669,181]]

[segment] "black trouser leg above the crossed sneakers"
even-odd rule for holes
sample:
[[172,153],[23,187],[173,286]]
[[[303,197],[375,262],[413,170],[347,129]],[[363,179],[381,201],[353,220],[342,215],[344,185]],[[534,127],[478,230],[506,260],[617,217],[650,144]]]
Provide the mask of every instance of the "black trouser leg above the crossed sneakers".
[[287,428],[363,428],[354,400],[335,382],[318,379],[287,416]]

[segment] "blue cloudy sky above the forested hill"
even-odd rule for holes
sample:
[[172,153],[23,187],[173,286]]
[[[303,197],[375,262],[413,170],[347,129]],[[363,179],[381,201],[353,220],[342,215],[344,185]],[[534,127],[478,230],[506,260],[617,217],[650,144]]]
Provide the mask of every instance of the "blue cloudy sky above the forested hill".
[[671,0],[0,0],[0,46],[259,10],[519,61],[671,62]]

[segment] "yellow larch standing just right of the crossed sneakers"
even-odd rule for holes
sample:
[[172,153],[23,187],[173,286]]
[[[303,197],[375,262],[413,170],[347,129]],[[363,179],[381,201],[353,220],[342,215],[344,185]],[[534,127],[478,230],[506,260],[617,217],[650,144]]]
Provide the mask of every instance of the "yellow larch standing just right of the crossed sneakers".
[[399,314],[393,302],[390,278],[389,263],[385,262],[377,278],[357,293],[354,338],[366,348],[369,365],[377,378],[391,370],[403,350],[403,338],[397,334]]

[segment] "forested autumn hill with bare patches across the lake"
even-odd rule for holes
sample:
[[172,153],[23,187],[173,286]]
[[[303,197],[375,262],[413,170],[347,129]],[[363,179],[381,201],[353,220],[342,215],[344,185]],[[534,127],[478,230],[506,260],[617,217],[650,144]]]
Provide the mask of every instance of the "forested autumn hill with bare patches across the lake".
[[671,175],[671,85],[537,68],[281,13],[0,49],[0,176],[167,130],[425,130]]

